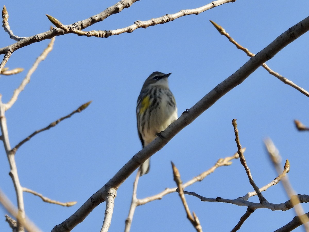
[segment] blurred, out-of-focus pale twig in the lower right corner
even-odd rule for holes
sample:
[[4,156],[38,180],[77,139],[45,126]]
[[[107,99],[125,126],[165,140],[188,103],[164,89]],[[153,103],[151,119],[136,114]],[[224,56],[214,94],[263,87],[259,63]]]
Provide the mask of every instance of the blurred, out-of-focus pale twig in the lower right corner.
[[[275,144],[273,144],[273,141],[270,139],[264,140],[264,144],[266,147],[266,150],[269,154],[269,157],[277,170],[278,173],[281,173],[281,156],[279,154],[278,149],[276,148]],[[284,165],[284,169],[290,169],[290,162],[289,160],[286,160],[286,164]],[[298,199],[298,196],[296,195],[295,191],[292,188],[292,185],[288,179],[287,176],[284,176],[281,180],[281,183],[283,184],[283,187],[287,193],[287,195],[291,199],[292,206],[294,206],[294,210],[296,215],[300,218],[302,223],[304,224],[305,230],[309,231],[309,225],[306,223],[309,221],[307,215],[305,214],[301,204],[300,200]]]

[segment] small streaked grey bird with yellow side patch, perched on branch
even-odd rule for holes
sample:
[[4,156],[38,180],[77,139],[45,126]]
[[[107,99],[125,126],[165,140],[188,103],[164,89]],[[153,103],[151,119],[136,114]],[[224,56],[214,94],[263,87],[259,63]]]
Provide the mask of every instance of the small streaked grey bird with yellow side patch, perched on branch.
[[[151,73],[138,96],[137,129],[143,148],[178,118],[175,97],[168,87],[169,75],[171,73]],[[141,165],[140,176],[149,172],[149,166],[150,159]]]

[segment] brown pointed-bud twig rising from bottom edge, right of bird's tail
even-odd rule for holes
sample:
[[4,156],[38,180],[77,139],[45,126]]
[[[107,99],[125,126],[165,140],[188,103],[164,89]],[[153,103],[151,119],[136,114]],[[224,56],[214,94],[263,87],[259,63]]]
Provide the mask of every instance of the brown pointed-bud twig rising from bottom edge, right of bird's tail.
[[173,169],[174,181],[177,184],[178,193],[179,193],[181,202],[184,205],[184,210],[186,211],[187,218],[189,219],[189,221],[194,226],[194,228],[197,232],[202,232],[203,231],[202,226],[201,226],[200,221],[198,220],[197,216],[195,215],[194,212],[193,212],[193,216],[190,213],[189,206],[188,206],[186,198],[184,196],[184,190],[182,188],[182,180],[180,179],[180,173],[179,173],[178,169],[176,168],[176,166],[174,165],[174,163],[171,162],[171,164],[172,164],[172,169]]

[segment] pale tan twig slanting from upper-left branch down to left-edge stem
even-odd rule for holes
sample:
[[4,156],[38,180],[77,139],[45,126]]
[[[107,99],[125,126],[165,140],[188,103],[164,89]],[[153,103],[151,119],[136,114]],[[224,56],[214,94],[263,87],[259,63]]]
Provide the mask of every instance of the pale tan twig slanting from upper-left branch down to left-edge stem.
[[40,54],[40,56],[38,58],[36,58],[36,61],[33,63],[32,67],[29,69],[29,71],[28,71],[26,77],[23,79],[22,83],[19,85],[19,87],[17,89],[15,89],[13,96],[11,97],[11,100],[8,101],[5,104],[5,110],[8,110],[12,107],[12,105],[17,100],[19,93],[21,91],[23,91],[26,84],[29,83],[30,77],[31,77],[32,73],[36,70],[36,68],[38,67],[39,63],[41,61],[43,61],[46,58],[47,54],[49,54],[49,52],[51,52],[53,50],[54,41],[55,41],[55,38],[52,38],[50,40],[49,44],[47,45],[47,47],[42,52],[42,54]]

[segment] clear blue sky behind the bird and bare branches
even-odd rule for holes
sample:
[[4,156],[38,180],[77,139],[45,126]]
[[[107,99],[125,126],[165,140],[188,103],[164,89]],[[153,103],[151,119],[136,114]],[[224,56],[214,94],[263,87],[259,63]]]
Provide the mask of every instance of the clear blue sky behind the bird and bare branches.
[[[49,29],[45,14],[63,24],[95,15],[116,1],[4,1],[11,29],[19,37]],[[205,1],[138,1],[129,9],[112,15],[86,30],[111,30],[132,25],[182,9],[203,6]],[[71,216],[141,149],[136,129],[135,107],[143,81],[153,71],[172,72],[170,88],[178,114],[192,107],[217,84],[239,69],[249,57],[236,49],[210,24],[213,20],[241,45],[258,53],[277,36],[308,16],[309,2],[295,0],[243,1],[224,4],[200,15],[189,15],[173,22],[139,28],[109,38],[77,35],[58,36],[53,51],[41,62],[18,101],[6,112],[11,146],[33,131],[49,125],[83,103],[93,102],[80,114],[57,127],[36,135],[16,153],[22,186],[54,200],[78,201],[70,208],[47,204],[24,193],[27,216],[43,231]],[[1,47],[12,44],[0,30]],[[305,34],[282,49],[267,64],[274,71],[309,90],[308,39]],[[2,76],[0,93],[7,102],[26,71],[49,41],[17,50],[6,67],[23,67],[19,75]],[[308,98],[257,69],[242,84],[219,99],[193,123],[178,133],[151,157],[150,173],[140,179],[138,198],[175,187],[170,161],[178,167],[184,182],[208,170],[221,157],[237,151],[234,129],[237,118],[240,142],[255,183],[262,187],[276,176],[267,157],[263,140],[270,137],[283,160],[290,160],[289,179],[299,194],[309,194],[307,176],[309,134],[298,132],[293,120],[309,126]],[[13,203],[15,191],[4,149],[0,155],[0,187]],[[119,188],[110,231],[123,231],[129,212],[133,173]],[[218,168],[202,182],[186,188],[210,198],[235,199],[253,191],[239,160]],[[271,203],[288,200],[279,183],[263,192]],[[204,231],[230,231],[245,213],[245,207],[201,202],[187,196],[191,211]],[[258,202],[257,197],[250,201]],[[305,212],[309,211],[302,204]],[[99,205],[73,231],[99,231],[105,203]],[[0,228],[9,231],[6,212],[0,208]],[[240,231],[273,231],[294,217],[293,209],[273,212],[256,210]],[[187,220],[178,194],[169,194],[136,209],[131,231],[194,231]],[[298,228],[295,231],[303,231]]]

